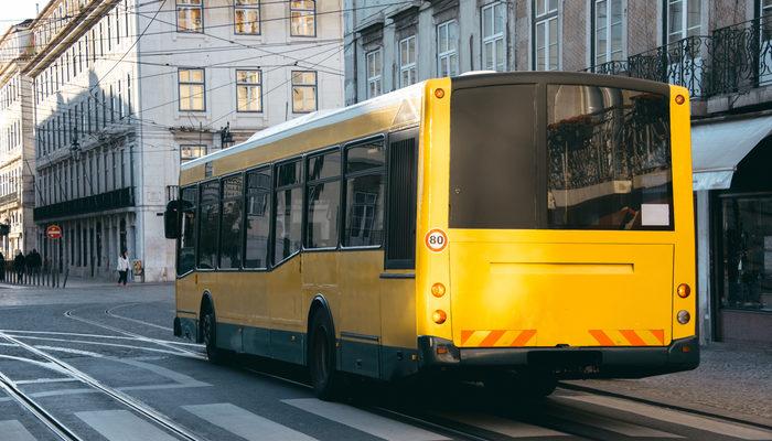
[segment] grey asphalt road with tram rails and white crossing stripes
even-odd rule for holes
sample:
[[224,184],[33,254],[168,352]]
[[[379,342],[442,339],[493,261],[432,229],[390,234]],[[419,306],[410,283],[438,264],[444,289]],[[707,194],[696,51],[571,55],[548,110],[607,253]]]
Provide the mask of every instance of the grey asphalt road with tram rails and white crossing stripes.
[[559,388],[356,383],[313,398],[303,369],[206,361],[172,335],[170,286],[0,289],[0,441],[772,440],[721,418]]

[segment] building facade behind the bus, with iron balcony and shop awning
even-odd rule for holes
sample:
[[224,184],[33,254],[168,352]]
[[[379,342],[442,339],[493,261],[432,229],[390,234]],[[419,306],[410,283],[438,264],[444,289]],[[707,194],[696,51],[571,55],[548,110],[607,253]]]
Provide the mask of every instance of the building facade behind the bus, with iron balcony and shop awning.
[[347,0],[346,104],[469,71],[691,97],[700,336],[772,345],[772,0]]

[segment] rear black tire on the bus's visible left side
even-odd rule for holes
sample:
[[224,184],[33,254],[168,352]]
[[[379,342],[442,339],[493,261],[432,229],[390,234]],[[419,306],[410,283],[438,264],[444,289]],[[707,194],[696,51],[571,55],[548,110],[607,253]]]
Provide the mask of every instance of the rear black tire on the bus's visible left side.
[[339,398],[343,379],[335,372],[335,334],[330,314],[323,308],[317,309],[311,316],[308,358],[317,397],[325,401]]

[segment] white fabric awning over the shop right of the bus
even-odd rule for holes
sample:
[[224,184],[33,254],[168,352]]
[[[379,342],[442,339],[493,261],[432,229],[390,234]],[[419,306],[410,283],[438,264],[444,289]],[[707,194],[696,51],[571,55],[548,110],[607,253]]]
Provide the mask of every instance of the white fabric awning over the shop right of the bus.
[[694,190],[729,189],[737,164],[770,133],[772,116],[694,125]]

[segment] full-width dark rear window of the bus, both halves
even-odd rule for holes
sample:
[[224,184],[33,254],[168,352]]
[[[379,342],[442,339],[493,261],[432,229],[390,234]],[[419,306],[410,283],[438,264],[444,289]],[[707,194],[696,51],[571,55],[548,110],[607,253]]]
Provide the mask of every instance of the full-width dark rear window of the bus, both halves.
[[672,230],[669,97],[571,84],[540,96],[453,93],[450,226]]

